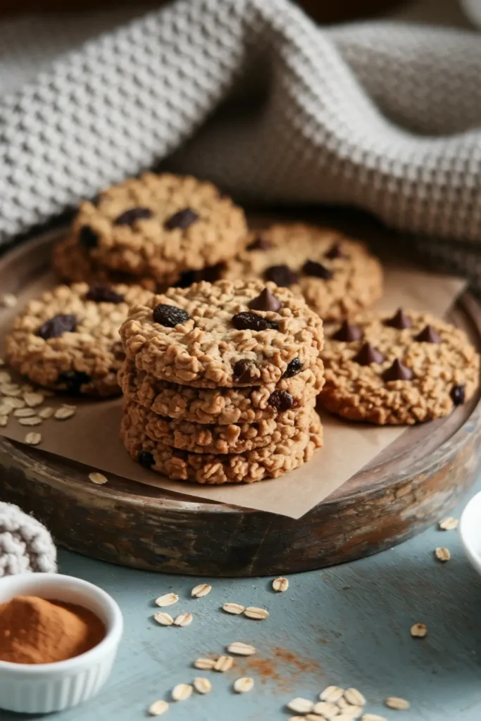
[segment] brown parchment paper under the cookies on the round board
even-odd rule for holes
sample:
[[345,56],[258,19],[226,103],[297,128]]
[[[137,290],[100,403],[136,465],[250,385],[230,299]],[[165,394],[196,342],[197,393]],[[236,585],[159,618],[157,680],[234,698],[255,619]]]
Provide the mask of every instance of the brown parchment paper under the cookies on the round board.
[[[19,299],[16,311],[28,298],[53,284],[52,276],[37,281]],[[387,269],[386,293],[378,308],[395,311],[405,309],[431,311],[444,315],[456,296],[464,288],[464,281],[446,276],[420,273],[417,270]],[[3,338],[12,322],[14,311],[1,311],[0,334]],[[296,471],[278,479],[252,485],[201,486],[180,483],[147,471],[128,457],[120,443],[118,429],[121,417],[121,399],[111,401],[85,401],[79,399],[48,398],[45,404],[58,407],[62,403],[77,406],[76,415],[69,420],[46,420],[43,425],[29,428],[19,425],[10,415],[1,435],[24,441],[30,430],[42,434],[39,448],[49,453],[80,461],[88,474],[99,469],[105,474],[117,474],[132,481],[182,492],[193,497],[216,500],[243,508],[278,513],[282,516],[300,518],[317,503],[343,485],[351,476],[369,463],[389,446],[405,428],[379,428],[376,426],[345,423],[327,414],[322,415],[325,446],[314,459]],[[133,486],[133,492],[138,492]]]

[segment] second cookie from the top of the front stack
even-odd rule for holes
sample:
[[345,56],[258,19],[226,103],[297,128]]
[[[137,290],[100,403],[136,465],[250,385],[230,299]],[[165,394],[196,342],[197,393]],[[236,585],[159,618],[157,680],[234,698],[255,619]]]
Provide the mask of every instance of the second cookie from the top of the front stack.
[[119,383],[125,398],[157,415],[204,424],[256,423],[277,417],[279,394],[273,396],[277,391],[292,397],[298,408],[311,402],[324,384],[324,368],[320,359],[305,370],[294,363],[291,375],[277,385],[209,389],[158,381],[137,371],[135,363],[127,359]]

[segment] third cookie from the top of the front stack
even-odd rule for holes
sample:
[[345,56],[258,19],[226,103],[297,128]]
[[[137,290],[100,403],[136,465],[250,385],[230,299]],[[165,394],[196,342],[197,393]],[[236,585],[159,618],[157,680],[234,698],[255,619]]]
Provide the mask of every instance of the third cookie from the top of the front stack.
[[257,423],[200,425],[156,415],[132,401],[125,401],[124,405],[124,412],[135,425],[144,428],[152,441],[200,454],[239,454],[286,441],[302,441],[313,410],[314,398],[304,408],[291,407],[276,418]]

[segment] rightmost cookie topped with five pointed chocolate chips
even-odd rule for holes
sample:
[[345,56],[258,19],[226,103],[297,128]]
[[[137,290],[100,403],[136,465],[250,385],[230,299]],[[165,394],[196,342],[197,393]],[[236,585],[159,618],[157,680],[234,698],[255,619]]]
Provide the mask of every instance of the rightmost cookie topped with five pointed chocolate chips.
[[348,420],[434,420],[469,401],[479,384],[480,358],[461,329],[403,309],[335,328],[322,358],[321,402]]

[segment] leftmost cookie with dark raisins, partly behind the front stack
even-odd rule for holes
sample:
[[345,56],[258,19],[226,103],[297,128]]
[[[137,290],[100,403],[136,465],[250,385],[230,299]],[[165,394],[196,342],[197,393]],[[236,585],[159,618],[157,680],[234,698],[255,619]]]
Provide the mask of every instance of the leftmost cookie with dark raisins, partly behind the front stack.
[[119,328],[151,296],[138,286],[76,283],[30,301],[6,337],[6,360],[48,388],[89,396],[120,394]]

